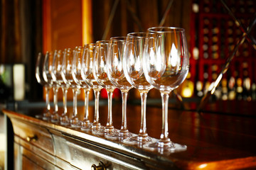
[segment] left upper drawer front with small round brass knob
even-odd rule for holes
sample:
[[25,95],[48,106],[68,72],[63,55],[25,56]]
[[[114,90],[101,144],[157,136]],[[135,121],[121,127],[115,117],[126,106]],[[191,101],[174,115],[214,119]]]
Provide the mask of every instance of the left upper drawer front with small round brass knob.
[[11,122],[16,136],[54,155],[53,139],[46,128],[15,118]]

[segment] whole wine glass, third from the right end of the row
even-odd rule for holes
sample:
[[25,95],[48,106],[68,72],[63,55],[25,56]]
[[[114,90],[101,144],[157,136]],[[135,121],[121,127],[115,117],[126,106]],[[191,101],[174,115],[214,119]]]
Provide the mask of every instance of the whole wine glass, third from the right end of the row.
[[123,51],[126,37],[110,38],[110,47],[107,51],[107,77],[122,93],[122,125],[118,133],[105,135],[107,139],[124,140],[132,134],[127,128],[127,94],[132,84],[124,77]]

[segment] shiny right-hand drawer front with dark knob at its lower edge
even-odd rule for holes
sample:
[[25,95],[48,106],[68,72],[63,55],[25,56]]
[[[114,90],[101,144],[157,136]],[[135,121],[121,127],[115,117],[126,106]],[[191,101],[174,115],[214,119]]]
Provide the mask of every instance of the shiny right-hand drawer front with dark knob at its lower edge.
[[[134,157],[119,154],[110,149],[67,137],[70,164],[79,169],[91,169],[104,164],[107,169],[146,169],[144,162]],[[93,169],[93,168],[92,168]]]

